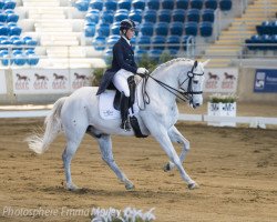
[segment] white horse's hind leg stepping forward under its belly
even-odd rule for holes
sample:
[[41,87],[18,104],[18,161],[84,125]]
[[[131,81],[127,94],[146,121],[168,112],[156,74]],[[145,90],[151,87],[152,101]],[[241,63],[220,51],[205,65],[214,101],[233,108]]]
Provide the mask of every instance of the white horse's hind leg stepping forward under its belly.
[[112,151],[112,140],[111,135],[107,134],[101,134],[99,137],[95,137],[93,132],[90,132],[90,134],[94,138],[96,138],[100,147],[100,151],[102,154],[102,159],[106,162],[106,164],[113,170],[113,172],[116,174],[120,181],[122,181],[125,184],[126,190],[134,189],[133,183],[126,178],[126,175],[120,170],[117,164],[114,161],[113,158],[113,151]]

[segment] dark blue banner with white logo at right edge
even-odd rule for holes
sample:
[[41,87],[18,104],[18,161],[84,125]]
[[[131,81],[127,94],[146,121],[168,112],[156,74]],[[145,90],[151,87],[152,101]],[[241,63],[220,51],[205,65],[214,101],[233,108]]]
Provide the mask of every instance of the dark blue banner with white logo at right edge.
[[277,70],[256,70],[254,92],[277,92]]

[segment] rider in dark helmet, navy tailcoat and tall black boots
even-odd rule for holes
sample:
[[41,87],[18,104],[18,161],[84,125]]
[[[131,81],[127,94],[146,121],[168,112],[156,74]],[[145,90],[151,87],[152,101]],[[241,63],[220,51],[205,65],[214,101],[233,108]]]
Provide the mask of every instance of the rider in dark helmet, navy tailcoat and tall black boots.
[[130,40],[134,36],[135,23],[131,19],[124,19],[120,24],[121,39],[113,46],[113,61],[112,68],[106,70],[96,94],[101,94],[105,89],[113,85],[121,92],[121,128],[130,131],[129,114],[129,99],[130,88],[127,79],[134,74],[143,77],[148,71],[145,68],[137,68],[134,61],[134,51]]

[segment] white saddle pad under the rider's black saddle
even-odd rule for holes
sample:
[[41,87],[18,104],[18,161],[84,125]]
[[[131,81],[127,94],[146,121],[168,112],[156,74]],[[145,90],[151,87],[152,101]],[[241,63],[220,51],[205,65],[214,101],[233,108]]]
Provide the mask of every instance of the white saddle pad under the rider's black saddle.
[[[121,112],[113,108],[114,97],[115,97],[114,90],[106,90],[99,95],[99,112],[100,117],[104,120],[121,119]],[[131,112],[131,109],[129,110],[130,115],[136,114],[140,110],[136,102],[136,98],[133,109],[134,113]]]

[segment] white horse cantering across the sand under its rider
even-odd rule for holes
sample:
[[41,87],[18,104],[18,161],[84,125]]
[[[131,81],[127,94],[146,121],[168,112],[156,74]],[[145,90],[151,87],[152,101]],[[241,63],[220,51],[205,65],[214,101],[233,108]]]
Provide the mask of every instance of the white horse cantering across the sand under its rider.
[[[176,95],[179,92],[187,95],[193,108],[203,103],[204,67],[208,61],[197,62],[188,59],[174,59],[157,67],[145,81],[140,81],[136,95],[147,93],[148,103],[137,113],[143,134],[154,137],[170,158],[164,167],[165,171],[177,167],[182,179],[188,189],[197,188],[197,183],[189,178],[182,163],[189,150],[189,142],[174,127],[177,121],[178,110]],[[145,85],[143,85],[143,82]],[[174,93],[173,91],[177,91]],[[59,132],[64,132],[66,147],[62,154],[66,189],[76,190],[78,186],[71,179],[71,160],[76,152],[85,133],[99,142],[101,154],[107,165],[114,171],[127,190],[133,189],[133,183],[120,170],[112,152],[111,134],[134,135],[134,131],[124,131],[120,128],[121,119],[104,120],[100,117],[98,88],[84,87],[74,91],[70,97],[59,99],[45,118],[44,135],[31,135],[27,139],[29,148],[37,153],[43,153],[55,139]],[[142,104],[141,104],[142,107]],[[178,157],[172,142],[183,145]]]

